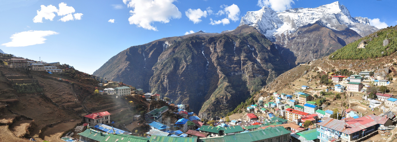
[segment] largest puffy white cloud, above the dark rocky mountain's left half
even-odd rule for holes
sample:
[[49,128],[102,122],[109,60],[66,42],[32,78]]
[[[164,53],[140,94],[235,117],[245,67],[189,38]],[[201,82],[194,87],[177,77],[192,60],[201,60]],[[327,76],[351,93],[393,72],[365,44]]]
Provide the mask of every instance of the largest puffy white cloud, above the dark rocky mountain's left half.
[[168,23],[170,19],[182,17],[181,11],[172,4],[176,0],[123,0],[129,8],[133,8],[129,13],[129,24],[135,24],[148,30],[157,31],[153,22]]

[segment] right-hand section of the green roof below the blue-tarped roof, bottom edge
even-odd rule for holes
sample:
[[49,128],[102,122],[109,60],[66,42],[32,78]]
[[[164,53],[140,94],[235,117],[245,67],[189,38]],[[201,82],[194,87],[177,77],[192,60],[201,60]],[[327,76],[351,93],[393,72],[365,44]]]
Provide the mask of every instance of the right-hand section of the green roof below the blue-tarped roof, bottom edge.
[[109,134],[101,142],[148,142],[149,138],[128,134]]

